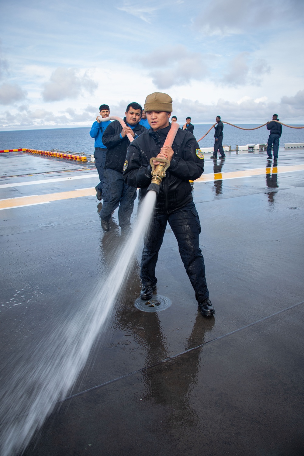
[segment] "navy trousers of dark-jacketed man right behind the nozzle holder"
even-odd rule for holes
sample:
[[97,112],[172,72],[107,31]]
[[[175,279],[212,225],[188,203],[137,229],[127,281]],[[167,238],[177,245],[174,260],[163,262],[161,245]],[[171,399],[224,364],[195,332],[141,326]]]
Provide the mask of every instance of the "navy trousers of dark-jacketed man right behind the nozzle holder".
[[119,207],[118,223],[120,228],[124,229],[130,225],[137,188],[127,185],[119,171],[105,168],[103,177],[103,208],[99,214],[100,218],[109,220],[112,212]]

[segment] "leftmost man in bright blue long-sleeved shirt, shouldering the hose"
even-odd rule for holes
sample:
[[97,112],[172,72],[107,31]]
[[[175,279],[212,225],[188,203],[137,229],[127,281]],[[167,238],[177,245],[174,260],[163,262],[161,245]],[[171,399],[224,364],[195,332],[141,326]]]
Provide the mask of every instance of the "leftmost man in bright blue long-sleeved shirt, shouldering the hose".
[[[99,114],[100,117],[105,119],[110,115],[110,108],[108,107],[107,104],[102,104],[99,106]],[[95,157],[95,166],[97,168],[98,174],[99,174],[99,184],[95,187],[96,190],[96,197],[99,201],[102,199],[102,193],[103,193],[103,186],[104,186],[104,178],[103,178],[103,171],[104,171],[104,164],[106,161],[106,153],[107,153],[107,148],[103,144],[102,138],[103,138],[103,132],[107,128],[107,126],[111,123],[110,120],[107,122],[101,122],[98,120],[98,117],[96,117],[96,122],[93,123],[92,128],[90,130],[90,136],[91,138],[95,138],[95,151],[94,151],[94,157]]]

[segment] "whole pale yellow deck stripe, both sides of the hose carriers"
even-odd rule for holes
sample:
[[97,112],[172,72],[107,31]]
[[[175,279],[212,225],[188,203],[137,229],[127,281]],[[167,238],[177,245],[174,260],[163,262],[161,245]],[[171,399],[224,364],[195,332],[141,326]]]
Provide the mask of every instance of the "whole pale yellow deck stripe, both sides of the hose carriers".
[[[240,177],[250,177],[250,176],[263,176],[265,174],[277,174],[284,172],[293,172],[293,171],[304,171],[304,165],[287,165],[287,166],[267,166],[266,168],[256,168],[251,170],[244,171],[232,171],[232,172],[223,172],[223,173],[212,173],[205,174],[199,179],[196,179],[195,182],[211,182],[225,179],[237,179]],[[96,190],[94,187],[82,188],[78,190],[72,190],[70,192],[58,192],[58,193],[48,193],[46,195],[32,195],[29,197],[17,197],[0,200],[0,210],[1,209],[10,209],[13,207],[22,207],[22,206],[31,206],[34,204],[42,204],[51,201],[59,201],[69,198],[79,198],[79,197],[88,197],[95,196]]]

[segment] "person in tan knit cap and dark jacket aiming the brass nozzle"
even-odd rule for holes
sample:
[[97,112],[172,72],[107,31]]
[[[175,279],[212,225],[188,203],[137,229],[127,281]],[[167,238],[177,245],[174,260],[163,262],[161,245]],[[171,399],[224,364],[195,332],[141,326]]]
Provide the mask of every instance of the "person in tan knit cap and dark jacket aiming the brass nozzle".
[[215,310],[209,300],[204,258],[199,246],[201,225],[189,183],[189,180],[194,181],[204,171],[204,156],[195,137],[187,130],[179,129],[172,147],[164,146],[172,112],[172,98],[169,95],[151,93],[146,98],[144,110],[151,128],[129,145],[124,162],[124,179],[128,185],[140,187],[141,201],[151,183],[150,158],[166,158],[170,160],[170,167],[160,184],[151,227],[144,238],[140,297],[143,300],[151,299],[156,289],[155,266],[169,222],[201,313],[212,316]]

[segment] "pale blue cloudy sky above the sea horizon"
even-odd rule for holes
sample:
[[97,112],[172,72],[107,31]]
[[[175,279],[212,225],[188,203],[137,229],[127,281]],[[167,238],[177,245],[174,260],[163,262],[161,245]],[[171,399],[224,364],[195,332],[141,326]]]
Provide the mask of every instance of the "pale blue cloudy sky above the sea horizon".
[[183,121],[304,123],[303,0],[0,2],[0,129],[171,95]]

